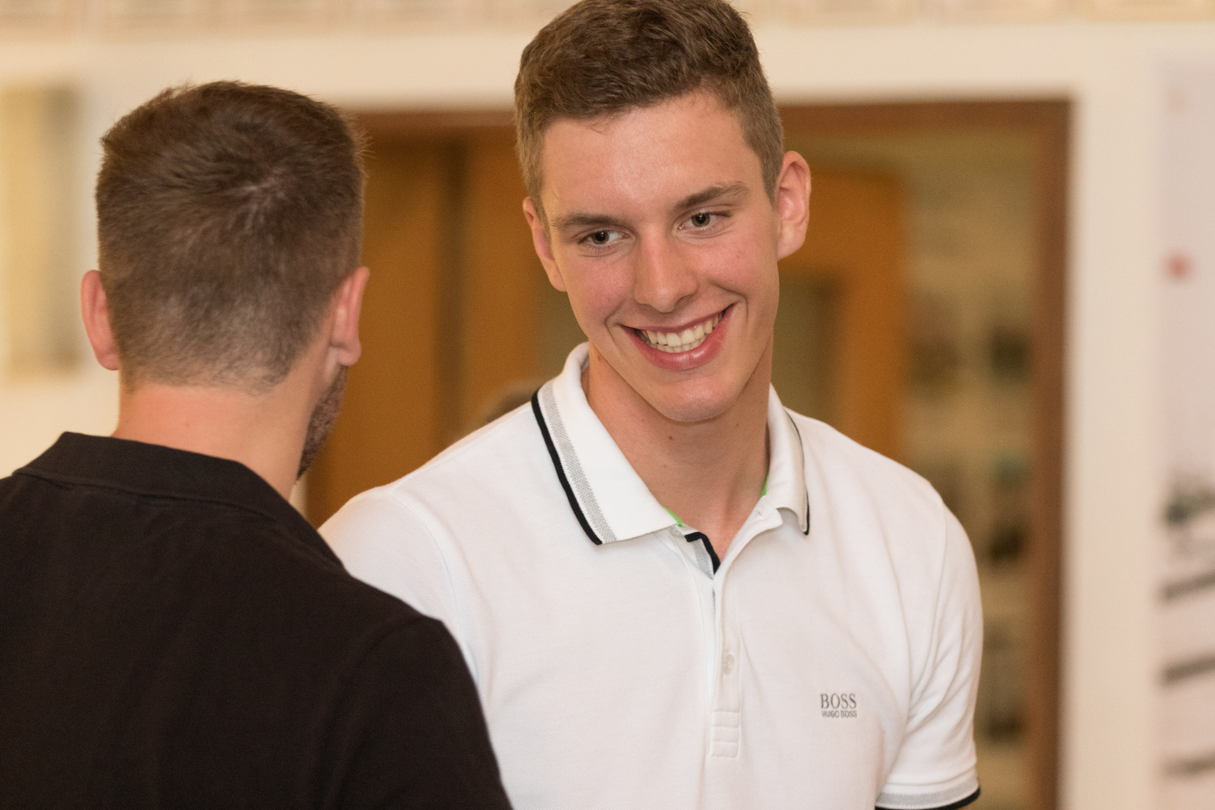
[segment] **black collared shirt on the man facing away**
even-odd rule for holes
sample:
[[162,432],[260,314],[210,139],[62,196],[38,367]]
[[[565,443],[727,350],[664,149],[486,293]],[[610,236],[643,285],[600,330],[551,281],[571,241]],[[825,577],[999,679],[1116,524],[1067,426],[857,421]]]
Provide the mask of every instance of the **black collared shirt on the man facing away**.
[[0,480],[0,806],[509,805],[442,624],[248,468],[64,434]]

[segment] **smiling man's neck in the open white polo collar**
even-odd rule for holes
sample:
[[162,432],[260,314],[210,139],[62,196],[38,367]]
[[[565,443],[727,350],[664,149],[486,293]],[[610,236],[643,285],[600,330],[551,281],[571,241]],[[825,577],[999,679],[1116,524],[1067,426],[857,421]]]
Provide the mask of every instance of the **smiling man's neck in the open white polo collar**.
[[592,347],[587,402],[654,497],[708,536],[724,559],[768,477],[768,356],[725,412],[697,423],[663,417]]

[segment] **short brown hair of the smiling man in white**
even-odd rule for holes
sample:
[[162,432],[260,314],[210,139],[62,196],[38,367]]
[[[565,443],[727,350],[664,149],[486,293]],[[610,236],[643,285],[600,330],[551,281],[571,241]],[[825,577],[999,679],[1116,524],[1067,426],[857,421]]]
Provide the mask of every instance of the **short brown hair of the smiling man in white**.
[[[544,131],[696,90],[733,112],[775,196],[784,130],[751,29],[724,0],[582,0],[536,34],[515,78],[515,146],[539,209]],[[542,214],[543,216],[543,214]]]

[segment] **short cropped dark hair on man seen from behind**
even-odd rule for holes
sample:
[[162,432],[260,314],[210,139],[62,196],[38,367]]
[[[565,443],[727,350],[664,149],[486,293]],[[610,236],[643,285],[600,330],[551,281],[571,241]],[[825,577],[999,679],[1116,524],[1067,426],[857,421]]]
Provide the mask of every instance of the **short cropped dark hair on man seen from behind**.
[[265,391],[362,249],[360,136],[278,87],[170,87],[101,140],[97,237],[124,385]]

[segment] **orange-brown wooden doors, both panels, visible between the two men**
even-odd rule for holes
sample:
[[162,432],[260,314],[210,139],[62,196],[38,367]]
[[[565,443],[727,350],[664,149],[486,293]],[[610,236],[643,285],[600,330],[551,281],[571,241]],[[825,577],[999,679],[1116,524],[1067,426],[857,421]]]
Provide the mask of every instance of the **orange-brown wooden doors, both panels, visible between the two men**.
[[547,282],[524,221],[512,131],[369,129],[363,355],[309,471],[317,526],[422,466],[503,386],[539,368]]

